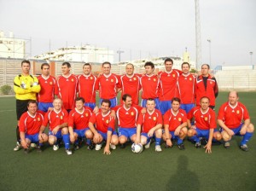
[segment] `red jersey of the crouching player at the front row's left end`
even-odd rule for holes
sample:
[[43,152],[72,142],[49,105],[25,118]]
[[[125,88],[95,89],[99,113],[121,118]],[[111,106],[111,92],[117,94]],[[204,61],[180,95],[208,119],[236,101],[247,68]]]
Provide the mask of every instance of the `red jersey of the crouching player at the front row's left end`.
[[39,132],[40,127],[44,121],[44,116],[41,113],[35,113],[32,116],[30,113],[23,113],[20,117],[20,132],[26,133],[26,135],[34,135]]

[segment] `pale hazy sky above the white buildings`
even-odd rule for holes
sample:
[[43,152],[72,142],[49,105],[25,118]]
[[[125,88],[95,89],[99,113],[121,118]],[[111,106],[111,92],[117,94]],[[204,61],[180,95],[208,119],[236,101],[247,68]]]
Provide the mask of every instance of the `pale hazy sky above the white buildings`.
[[[202,63],[256,65],[255,9],[255,0],[200,0]],[[31,39],[28,55],[93,44],[115,61],[118,49],[129,61],[186,48],[195,61],[195,0],[0,0],[0,31]]]

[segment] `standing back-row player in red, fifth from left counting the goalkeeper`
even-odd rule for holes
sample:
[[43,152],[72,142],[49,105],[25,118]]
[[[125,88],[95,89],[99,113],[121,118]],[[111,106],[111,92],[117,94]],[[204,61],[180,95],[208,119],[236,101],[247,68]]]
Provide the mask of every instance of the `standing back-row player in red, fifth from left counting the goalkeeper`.
[[103,99],[111,101],[111,107],[117,105],[117,89],[119,88],[119,78],[110,72],[111,64],[106,61],[102,63],[103,74],[96,80],[96,90],[99,90],[100,104]]

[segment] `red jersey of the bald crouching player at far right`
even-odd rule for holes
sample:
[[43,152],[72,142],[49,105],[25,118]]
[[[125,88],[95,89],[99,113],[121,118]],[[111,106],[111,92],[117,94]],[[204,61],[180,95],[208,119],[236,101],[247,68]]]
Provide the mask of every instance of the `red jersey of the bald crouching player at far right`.
[[237,102],[235,107],[230,105],[230,102],[225,102],[218,110],[218,119],[223,120],[224,124],[230,128],[237,128],[243,120],[250,119],[247,108]]

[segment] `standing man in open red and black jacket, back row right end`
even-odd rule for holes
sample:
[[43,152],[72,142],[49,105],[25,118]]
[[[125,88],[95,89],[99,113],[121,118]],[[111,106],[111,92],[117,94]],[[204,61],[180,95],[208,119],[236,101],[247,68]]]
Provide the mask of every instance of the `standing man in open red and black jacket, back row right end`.
[[209,74],[210,66],[201,66],[201,75],[196,78],[195,96],[196,106],[200,105],[201,97],[207,96],[210,99],[210,107],[214,109],[215,99],[218,96],[218,84],[216,78]]

